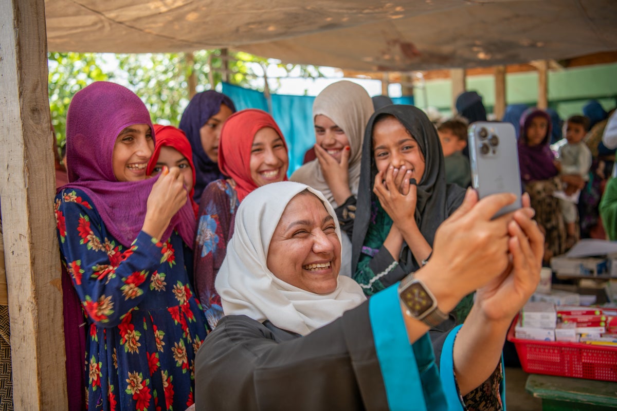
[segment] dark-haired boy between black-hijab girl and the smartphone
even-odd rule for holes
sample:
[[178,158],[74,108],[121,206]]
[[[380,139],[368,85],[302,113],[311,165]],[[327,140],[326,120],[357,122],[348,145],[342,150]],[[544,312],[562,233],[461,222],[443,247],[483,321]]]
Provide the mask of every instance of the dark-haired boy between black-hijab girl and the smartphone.
[[467,122],[462,118],[444,121],[437,128],[445,158],[445,181],[463,189],[471,184],[469,159],[462,150],[467,146]]

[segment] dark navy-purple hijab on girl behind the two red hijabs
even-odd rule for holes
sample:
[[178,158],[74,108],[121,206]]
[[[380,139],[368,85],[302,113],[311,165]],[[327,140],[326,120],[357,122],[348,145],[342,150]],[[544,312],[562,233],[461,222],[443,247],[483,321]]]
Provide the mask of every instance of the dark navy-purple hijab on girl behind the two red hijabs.
[[205,153],[204,146],[201,145],[201,136],[199,136],[199,129],[207,123],[210,117],[220,112],[221,104],[229,107],[232,113],[236,112],[233,102],[225,94],[213,90],[197,93],[186,106],[180,120],[180,129],[184,131],[193,148],[193,164],[196,174],[193,198],[196,203],[199,203],[206,185],[225,177],[218,169],[217,163],[210,160]]

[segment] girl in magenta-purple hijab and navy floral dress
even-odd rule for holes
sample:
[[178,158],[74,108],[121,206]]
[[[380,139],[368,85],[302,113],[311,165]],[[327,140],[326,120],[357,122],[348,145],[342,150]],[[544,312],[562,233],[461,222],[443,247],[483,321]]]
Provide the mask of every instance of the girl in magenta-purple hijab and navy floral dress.
[[146,176],[154,139],[146,106],[118,84],[93,83],[68,108],[70,182],[54,211],[86,315],[89,410],[193,404],[193,359],[207,333],[186,269],[196,222],[180,169]]

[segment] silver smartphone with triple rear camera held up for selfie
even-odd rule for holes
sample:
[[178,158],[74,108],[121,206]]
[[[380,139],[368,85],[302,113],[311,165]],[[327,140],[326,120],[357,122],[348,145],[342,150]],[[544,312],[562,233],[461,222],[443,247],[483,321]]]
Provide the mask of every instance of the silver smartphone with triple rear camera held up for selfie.
[[478,121],[468,129],[471,184],[484,198],[495,193],[513,193],[516,201],[497,211],[495,217],[521,208],[521,172],[514,126]]

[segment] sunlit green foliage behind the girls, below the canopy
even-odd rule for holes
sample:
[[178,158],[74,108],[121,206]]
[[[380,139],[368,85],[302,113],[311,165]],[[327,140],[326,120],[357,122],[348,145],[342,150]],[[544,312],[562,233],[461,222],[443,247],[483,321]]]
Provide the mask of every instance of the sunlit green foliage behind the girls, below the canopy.
[[[153,123],[178,126],[191,96],[189,87],[194,87],[194,92],[214,89],[222,81],[225,60],[228,82],[260,91],[263,86],[257,86],[257,79],[263,76],[263,68],[271,65],[286,73],[299,67],[303,78],[323,76],[316,66],[283,64],[246,52],[225,55],[220,49],[189,54],[49,52],[49,108],[58,147],[65,144],[67,110],[73,95],[94,81],[114,81],[128,87],[146,104]],[[272,91],[276,88],[271,87]]]

